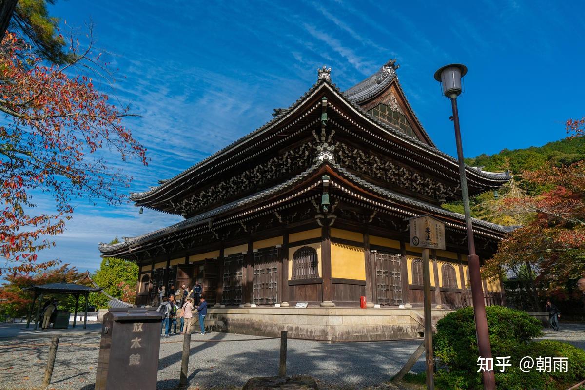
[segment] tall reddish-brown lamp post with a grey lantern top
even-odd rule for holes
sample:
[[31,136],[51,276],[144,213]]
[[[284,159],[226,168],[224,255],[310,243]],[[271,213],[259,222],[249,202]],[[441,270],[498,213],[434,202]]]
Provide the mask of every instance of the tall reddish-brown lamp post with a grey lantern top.
[[[486,305],[484,303],[483,290],[481,289],[481,275],[479,271],[479,257],[476,255],[475,242],[473,240],[473,226],[471,211],[469,208],[469,193],[467,192],[467,178],[465,176],[465,163],[463,162],[463,146],[459,129],[459,112],[457,112],[457,96],[462,92],[461,78],[467,73],[467,67],[462,64],[445,65],[435,72],[435,80],[440,81],[443,94],[451,99],[453,108],[453,125],[455,126],[455,141],[457,143],[457,158],[459,159],[459,174],[461,176],[461,195],[463,209],[465,210],[465,223],[467,226],[467,264],[469,265],[469,278],[472,287],[473,314],[476,323],[477,346],[481,358],[491,359],[490,336],[487,329]],[[483,371],[483,388],[495,389],[493,371]]]

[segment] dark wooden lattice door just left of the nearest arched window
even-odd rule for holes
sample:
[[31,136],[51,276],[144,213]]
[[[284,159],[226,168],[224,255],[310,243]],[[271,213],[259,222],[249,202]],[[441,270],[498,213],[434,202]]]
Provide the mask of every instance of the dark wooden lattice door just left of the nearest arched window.
[[278,249],[254,252],[254,281],[252,302],[271,305],[278,299]]

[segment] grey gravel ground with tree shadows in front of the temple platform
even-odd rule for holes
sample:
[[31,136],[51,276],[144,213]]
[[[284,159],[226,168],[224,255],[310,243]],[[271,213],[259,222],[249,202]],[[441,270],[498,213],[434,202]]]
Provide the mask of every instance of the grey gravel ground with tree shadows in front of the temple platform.
[[[545,339],[567,341],[585,348],[585,325],[562,324],[560,332],[545,331]],[[280,339],[241,334],[209,333],[191,336],[189,384],[191,388],[241,388],[251,377],[278,371]],[[49,339],[0,341],[0,388],[40,387]],[[288,340],[287,374],[307,374],[324,385],[364,388],[383,384],[400,370],[421,340],[360,343],[322,343]],[[183,337],[161,340],[159,389],[178,385]],[[61,337],[50,388],[94,388],[99,351],[98,336]],[[424,371],[424,361],[413,371]],[[390,388],[390,387],[388,387]]]

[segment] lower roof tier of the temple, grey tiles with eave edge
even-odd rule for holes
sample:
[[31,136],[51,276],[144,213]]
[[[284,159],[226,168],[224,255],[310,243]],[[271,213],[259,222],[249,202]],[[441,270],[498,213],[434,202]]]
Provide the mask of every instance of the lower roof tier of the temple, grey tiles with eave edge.
[[[305,194],[307,191],[321,184],[321,177],[319,176],[319,172],[321,172],[322,168],[324,167],[328,167],[332,172],[335,172],[336,174],[339,174],[340,176],[346,178],[348,181],[355,184],[355,187],[362,188],[365,191],[376,195],[378,198],[384,199],[384,201],[399,205],[405,205],[408,206],[410,209],[414,209],[415,212],[409,212],[409,215],[411,216],[417,216],[428,213],[443,220],[449,219],[452,221],[456,221],[457,222],[456,225],[454,225],[453,223],[451,223],[451,225],[459,229],[465,228],[464,225],[465,216],[463,214],[443,209],[439,206],[433,205],[432,203],[424,202],[419,199],[414,199],[409,196],[399,194],[398,192],[391,191],[389,189],[381,188],[375,184],[371,184],[370,182],[363,180],[362,178],[357,177],[356,175],[347,171],[340,165],[329,164],[328,162],[324,161],[321,164],[312,165],[301,174],[298,174],[294,178],[291,178],[290,180],[287,180],[282,184],[264,189],[263,191],[257,192],[256,194],[239,199],[238,201],[231,202],[223,206],[219,206],[218,208],[201,213],[192,218],[185,219],[174,225],[164,227],[163,229],[159,229],[154,232],[142,234],[140,236],[127,237],[126,241],[123,243],[118,244],[100,243],[99,250],[104,254],[104,256],[123,257],[134,250],[139,251],[140,246],[142,246],[142,244],[150,243],[159,239],[164,239],[164,237],[166,236],[175,233],[180,233],[194,227],[211,226],[211,224],[214,223],[214,220],[221,218],[222,215],[229,215],[230,212],[234,212],[235,210],[243,212],[244,210],[247,210],[249,206],[252,206],[259,202],[271,201],[271,199],[277,196],[279,196],[280,198],[284,198],[287,201],[291,201],[291,199],[295,198],[295,196]],[[315,180],[315,178],[317,180],[311,184],[310,180]],[[305,184],[303,191],[297,191],[297,194],[295,195],[288,196],[286,195],[287,191],[289,191],[293,187],[298,187],[298,184],[304,181],[308,183]],[[333,187],[335,187],[336,185],[335,180],[332,180],[332,184]],[[277,203],[278,202],[272,201],[269,206],[274,206]],[[498,237],[501,237],[505,233],[514,230],[514,227],[512,226],[497,225],[495,223],[475,218],[472,219],[472,223],[474,227],[479,227],[480,229],[486,230],[487,232],[495,233],[498,235]],[[488,235],[492,234],[488,233]]]

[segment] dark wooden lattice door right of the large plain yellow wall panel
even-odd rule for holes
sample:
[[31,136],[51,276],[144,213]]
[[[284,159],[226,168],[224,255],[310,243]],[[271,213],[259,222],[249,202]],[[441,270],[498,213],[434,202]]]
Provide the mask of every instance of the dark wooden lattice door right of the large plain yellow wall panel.
[[402,282],[400,280],[400,255],[375,252],[377,301],[380,305],[402,303]]

